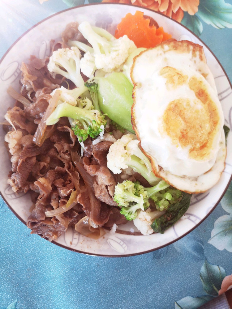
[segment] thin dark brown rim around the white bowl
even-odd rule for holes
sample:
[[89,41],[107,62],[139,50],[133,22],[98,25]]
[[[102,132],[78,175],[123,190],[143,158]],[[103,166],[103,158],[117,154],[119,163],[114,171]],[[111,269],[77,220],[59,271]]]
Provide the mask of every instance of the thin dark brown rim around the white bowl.
[[[154,11],[152,9],[149,9],[149,8],[146,8],[146,7],[143,7],[143,6],[138,6],[138,5],[132,5],[132,4],[127,4],[127,3],[111,3],[111,2],[96,2],[96,3],[89,3],[89,4],[82,4],[82,5],[79,5],[79,6],[73,6],[73,7],[70,7],[70,8],[67,8],[65,10],[62,10],[62,11],[59,11],[59,12],[56,12],[52,15],[49,15],[48,17],[45,17],[44,19],[42,19],[41,21],[39,21],[38,23],[34,24],[32,27],[30,27],[28,30],[26,30],[21,36],[18,37],[17,40],[14,41],[14,43],[11,44],[11,46],[6,50],[6,52],[3,54],[2,58],[0,59],[0,65],[3,61],[3,59],[6,57],[6,55],[10,52],[10,50],[14,47],[14,45],[19,41],[21,40],[22,37],[24,37],[28,32],[30,32],[33,28],[36,28],[39,24],[43,23],[45,20],[48,20],[50,18],[53,18],[55,15],[59,15],[59,14],[62,14],[63,12],[66,12],[66,11],[70,11],[70,10],[73,10],[73,9],[77,9],[79,7],[88,7],[88,6],[99,6],[99,5],[115,5],[115,6],[130,6],[130,7],[136,7],[140,10],[148,10],[148,11],[151,11],[155,14],[159,14],[161,16],[163,16],[164,18],[167,18],[167,19],[171,19],[174,23],[177,23],[179,24],[181,27],[187,29],[194,37],[196,37],[198,40],[200,40],[201,43],[203,43],[203,45],[210,51],[210,53],[213,55],[213,57],[215,58],[215,60],[217,61],[217,63],[219,64],[219,66],[221,67],[222,71],[224,72],[228,82],[229,82],[229,85],[230,85],[230,88],[232,89],[232,83],[230,82],[230,79],[228,77],[228,75],[226,74],[226,71],[225,69],[223,68],[223,66],[221,65],[220,61],[217,59],[217,57],[215,56],[215,54],[212,52],[212,50],[208,47],[208,45],[206,45],[204,43],[203,40],[201,40],[194,32],[192,32],[190,29],[188,29],[186,26],[184,26],[183,24],[181,24],[180,22],[178,22],[177,20],[175,19],[172,19],[171,17],[169,16],[166,16],[164,15],[163,13],[161,12],[157,12],[157,11]],[[224,189],[224,191],[221,193],[221,196],[219,197],[218,201],[215,203],[215,205],[213,206],[213,208],[207,213],[207,215],[201,219],[193,228],[191,228],[190,230],[188,230],[185,234],[179,236],[178,238],[170,241],[169,243],[165,243],[164,245],[161,245],[157,248],[153,248],[153,249],[149,249],[147,251],[142,251],[142,252],[137,252],[137,253],[128,253],[128,254],[119,254],[119,255],[108,255],[108,254],[98,254],[98,253],[91,253],[91,252],[85,252],[85,251],[82,251],[82,250],[78,250],[78,249],[74,249],[74,248],[70,248],[70,247],[67,247],[61,243],[57,243],[55,240],[53,240],[51,243],[55,244],[55,245],[58,245],[59,247],[62,247],[62,248],[65,248],[65,249],[68,249],[70,251],[74,251],[74,252],[78,252],[78,253],[82,253],[82,254],[85,254],[85,255],[90,255],[90,256],[99,256],[99,257],[128,257],[128,256],[136,256],[136,255],[141,255],[141,254],[145,254],[145,253],[149,253],[149,252],[153,252],[153,251],[156,251],[156,250],[159,250],[161,248],[164,248],[164,247],[167,247],[169,246],[170,244],[178,241],[179,239],[185,237],[186,235],[188,235],[189,233],[191,233],[191,231],[195,230],[195,228],[197,228],[206,218],[208,218],[208,216],[213,212],[213,210],[217,207],[217,205],[220,203],[222,197],[224,196],[224,194],[226,193],[230,183],[231,183],[231,180],[232,180],[232,174],[230,176],[230,180],[228,181],[228,184],[226,185],[226,188]],[[27,227],[27,223],[17,214],[17,212],[11,207],[11,205],[6,201],[5,197],[4,197],[4,194],[0,191],[0,195],[3,199],[3,201],[6,203],[6,205],[9,207],[9,209],[12,211],[12,213],[22,222],[24,223],[24,225]],[[29,229],[29,228],[28,228]],[[39,236],[39,235],[38,235]],[[135,235],[136,236],[136,235]],[[144,237],[146,237],[146,235],[142,235]],[[42,239],[45,239],[46,241],[48,241],[48,239],[46,238],[43,238],[41,237]]]

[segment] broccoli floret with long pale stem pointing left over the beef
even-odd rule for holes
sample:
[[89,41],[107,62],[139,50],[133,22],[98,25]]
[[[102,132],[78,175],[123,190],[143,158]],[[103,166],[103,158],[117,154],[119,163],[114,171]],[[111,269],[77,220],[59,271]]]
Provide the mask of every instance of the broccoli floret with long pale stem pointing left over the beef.
[[[84,100],[82,100],[83,102]],[[79,103],[81,105],[81,101]],[[101,116],[98,110],[88,110],[78,106],[62,103],[48,117],[46,125],[54,125],[60,117],[70,117],[71,126],[80,141],[85,141],[88,135],[96,138],[105,128],[105,116]]]

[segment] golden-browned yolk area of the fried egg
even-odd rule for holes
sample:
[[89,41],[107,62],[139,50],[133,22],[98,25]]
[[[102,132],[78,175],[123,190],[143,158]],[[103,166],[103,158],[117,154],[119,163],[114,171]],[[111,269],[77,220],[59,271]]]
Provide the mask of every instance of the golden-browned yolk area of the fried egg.
[[169,76],[168,80],[173,87],[177,87],[173,80],[188,83],[195,97],[175,99],[168,104],[162,116],[162,132],[177,146],[188,147],[190,158],[209,159],[220,121],[216,104],[202,80],[193,76],[187,81],[179,75],[176,79]]

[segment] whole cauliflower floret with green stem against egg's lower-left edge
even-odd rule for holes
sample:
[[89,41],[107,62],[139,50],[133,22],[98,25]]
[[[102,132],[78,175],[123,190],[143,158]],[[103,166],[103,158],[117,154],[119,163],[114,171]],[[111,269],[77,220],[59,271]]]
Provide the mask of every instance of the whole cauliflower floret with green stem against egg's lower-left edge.
[[120,174],[121,169],[126,169],[129,166],[151,185],[157,184],[161,180],[153,173],[151,163],[140,150],[139,141],[136,140],[134,134],[123,135],[110,146],[107,166],[114,174]]

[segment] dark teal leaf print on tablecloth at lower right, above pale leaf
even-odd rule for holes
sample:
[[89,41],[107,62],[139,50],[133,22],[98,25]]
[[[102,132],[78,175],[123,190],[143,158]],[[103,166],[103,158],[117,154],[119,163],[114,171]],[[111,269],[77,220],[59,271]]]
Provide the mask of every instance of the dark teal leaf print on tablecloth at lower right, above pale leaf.
[[204,291],[211,296],[218,296],[221,283],[226,277],[225,269],[218,265],[213,265],[207,260],[204,261],[200,269],[200,279]]

